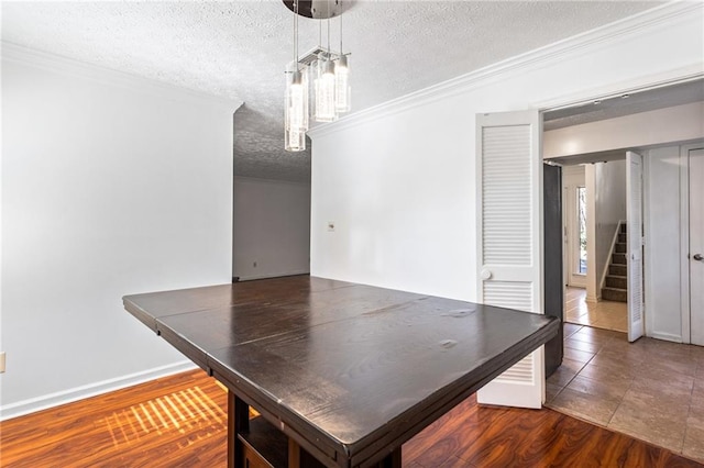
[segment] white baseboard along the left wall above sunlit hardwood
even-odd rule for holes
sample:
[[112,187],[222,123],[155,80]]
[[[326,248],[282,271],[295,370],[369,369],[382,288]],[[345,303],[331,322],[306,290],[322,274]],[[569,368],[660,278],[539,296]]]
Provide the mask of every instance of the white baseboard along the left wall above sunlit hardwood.
[[12,417],[22,416],[50,408],[58,406],[74,401],[84,400],[86,398],[96,397],[98,394],[108,393],[138,383],[144,383],[161,377],[172,376],[174,374],[184,372],[195,369],[197,366],[189,360],[184,360],[167,366],[155,367],[142,372],[130,374],[114,379],[102,380],[100,382],[89,383],[73,389],[64,390],[56,393],[50,393],[42,397],[35,397],[28,400],[18,401],[16,403],[0,406],[0,421],[10,420]]

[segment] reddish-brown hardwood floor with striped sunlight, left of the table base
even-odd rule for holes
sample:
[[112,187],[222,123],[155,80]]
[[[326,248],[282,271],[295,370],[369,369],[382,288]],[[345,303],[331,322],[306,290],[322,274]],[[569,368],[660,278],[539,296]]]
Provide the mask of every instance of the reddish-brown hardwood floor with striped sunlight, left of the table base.
[[226,422],[227,392],[195,370],[4,421],[0,466],[224,466]]

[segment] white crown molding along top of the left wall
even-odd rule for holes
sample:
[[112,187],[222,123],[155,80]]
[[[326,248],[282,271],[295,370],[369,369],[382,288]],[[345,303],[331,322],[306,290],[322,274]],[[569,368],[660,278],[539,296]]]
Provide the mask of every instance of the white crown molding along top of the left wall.
[[87,79],[102,85],[127,88],[166,99],[176,99],[200,104],[215,104],[224,107],[232,112],[243,104],[243,101],[237,99],[198,92],[188,88],[182,88],[175,85],[143,78],[138,75],[36,51],[6,41],[0,42],[0,55],[2,56],[2,62],[21,64],[45,71]]

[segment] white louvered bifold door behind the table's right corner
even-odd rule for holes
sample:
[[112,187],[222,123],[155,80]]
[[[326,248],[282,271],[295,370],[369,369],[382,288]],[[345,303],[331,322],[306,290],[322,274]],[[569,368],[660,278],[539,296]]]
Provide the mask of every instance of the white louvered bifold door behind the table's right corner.
[[[476,116],[479,301],[535,313],[543,313],[541,126],[538,111]],[[540,408],[543,366],[541,346],[477,401]]]

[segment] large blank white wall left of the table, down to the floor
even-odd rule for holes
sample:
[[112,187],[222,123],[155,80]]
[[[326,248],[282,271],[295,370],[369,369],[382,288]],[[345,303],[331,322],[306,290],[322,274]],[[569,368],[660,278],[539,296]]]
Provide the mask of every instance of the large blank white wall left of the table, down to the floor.
[[190,364],[127,293],[230,281],[237,104],[2,47],[2,417]]

